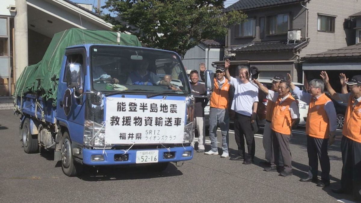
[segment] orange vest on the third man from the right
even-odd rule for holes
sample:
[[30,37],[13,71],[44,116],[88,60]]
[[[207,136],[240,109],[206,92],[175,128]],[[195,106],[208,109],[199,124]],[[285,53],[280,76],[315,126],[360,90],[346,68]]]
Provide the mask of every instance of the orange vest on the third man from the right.
[[282,102],[281,98],[278,97],[277,102],[275,103],[275,108],[272,114],[271,129],[275,132],[290,135],[292,127],[292,118],[290,105],[292,102],[295,102],[295,98],[288,93],[288,97]]

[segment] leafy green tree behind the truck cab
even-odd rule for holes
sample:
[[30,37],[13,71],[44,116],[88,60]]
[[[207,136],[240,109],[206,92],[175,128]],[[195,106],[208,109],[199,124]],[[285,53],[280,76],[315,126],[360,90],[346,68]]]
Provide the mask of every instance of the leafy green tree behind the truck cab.
[[104,16],[115,31],[128,31],[149,47],[175,51],[183,57],[202,40],[225,36],[227,27],[247,17],[235,10],[223,13],[224,1],[107,0],[102,8],[117,15]]

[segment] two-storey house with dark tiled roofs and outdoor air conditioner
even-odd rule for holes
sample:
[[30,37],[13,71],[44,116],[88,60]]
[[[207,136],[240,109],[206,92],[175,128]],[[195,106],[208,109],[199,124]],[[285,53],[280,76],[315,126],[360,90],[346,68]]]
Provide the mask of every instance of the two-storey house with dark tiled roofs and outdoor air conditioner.
[[[353,29],[345,19],[360,8],[357,0],[239,0],[225,11],[242,10],[248,18],[228,30],[226,57],[231,57],[231,68],[256,66],[262,79],[290,73],[304,83],[301,57],[352,44],[347,36]],[[290,30],[301,38],[287,41]]]

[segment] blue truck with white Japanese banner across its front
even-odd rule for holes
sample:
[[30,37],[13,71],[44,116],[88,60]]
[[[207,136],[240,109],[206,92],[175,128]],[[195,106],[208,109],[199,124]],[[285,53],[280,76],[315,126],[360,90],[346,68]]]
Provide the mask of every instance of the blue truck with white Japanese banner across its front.
[[[40,91],[24,91],[17,82],[15,111],[26,153],[54,150],[67,176],[77,176],[83,165],[161,171],[192,159],[195,99],[177,53],[92,43],[62,53],[56,95],[41,84]],[[33,74],[26,72],[23,84]]]

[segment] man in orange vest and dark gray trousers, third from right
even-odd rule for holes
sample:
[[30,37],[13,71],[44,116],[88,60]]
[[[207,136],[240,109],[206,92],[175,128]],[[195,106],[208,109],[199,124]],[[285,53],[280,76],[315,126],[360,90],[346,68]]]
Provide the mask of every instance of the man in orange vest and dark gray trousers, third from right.
[[283,170],[279,172],[281,176],[292,175],[292,157],[289,146],[291,138],[291,128],[299,120],[300,113],[295,98],[290,94],[290,86],[286,82],[281,82],[278,86],[278,92],[268,90],[257,79],[253,82],[258,88],[267,94],[267,99],[275,102],[275,108],[272,113],[271,129],[272,132],[272,152],[271,166],[264,168],[265,171],[272,172],[277,170],[279,165],[279,152],[283,157]]

